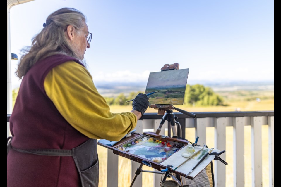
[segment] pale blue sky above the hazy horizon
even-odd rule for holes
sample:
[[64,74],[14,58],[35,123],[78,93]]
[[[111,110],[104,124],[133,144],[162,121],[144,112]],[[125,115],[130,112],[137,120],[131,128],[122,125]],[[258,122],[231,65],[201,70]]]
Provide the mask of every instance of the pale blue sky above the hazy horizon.
[[[85,60],[94,82],[147,82],[164,64],[188,81],[274,80],[272,0],[35,0],[10,10],[11,52],[30,46],[47,16],[71,7],[93,33]],[[12,89],[20,82],[13,72]]]

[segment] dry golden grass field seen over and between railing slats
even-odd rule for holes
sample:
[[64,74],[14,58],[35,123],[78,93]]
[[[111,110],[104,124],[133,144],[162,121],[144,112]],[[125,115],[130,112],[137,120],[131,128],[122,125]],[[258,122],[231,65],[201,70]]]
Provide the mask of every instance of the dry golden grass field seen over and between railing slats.
[[[257,101],[236,101],[229,103],[229,106],[218,107],[186,107],[178,105],[175,107],[188,112],[223,112],[223,111],[235,111],[240,108],[240,111],[268,111],[274,110],[274,99]],[[126,112],[131,111],[131,106],[112,106],[112,112]],[[155,109],[148,108],[147,112],[157,112]],[[177,112],[177,111],[174,111]],[[245,186],[251,186],[251,127],[245,126],[244,128],[244,140],[245,140]],[[263,186],[269,186],[268,176],[268,126],[262,127],[262,168],[263,168]],[[194,141],[195,129],[186,129],[186,138],[191,138]],[[214,127],[207,128],[206,144],[208,147],[214,147]],[[167,134],[166,134],[167,135]],[[233,127],[226,127],[226,186],[232,187],[233,185]],[[107,186],[107,148],[98,146],[98,154],[100,159],[100,187]],[[127,187],[131,184],[131,160],[119,156],[119,187]],[[152,170],[148,166],[143,166],[143,170]],[[143,175],[143,187],[153,186],[153,173],[142,172]],[[139,177],[139,176],[138,176]],[[160,182],[160,181],[159,181]],[[116,185],[117,186],[117,185]]]

